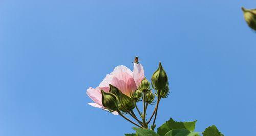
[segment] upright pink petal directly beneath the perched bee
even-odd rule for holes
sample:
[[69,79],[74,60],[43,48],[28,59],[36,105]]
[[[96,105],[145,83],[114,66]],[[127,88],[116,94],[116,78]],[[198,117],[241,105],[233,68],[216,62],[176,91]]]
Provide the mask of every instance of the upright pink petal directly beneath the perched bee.
[[139,87],[140,82],[144,79],[144,68],[141,64],[133,63],[133,78],[136,86]]

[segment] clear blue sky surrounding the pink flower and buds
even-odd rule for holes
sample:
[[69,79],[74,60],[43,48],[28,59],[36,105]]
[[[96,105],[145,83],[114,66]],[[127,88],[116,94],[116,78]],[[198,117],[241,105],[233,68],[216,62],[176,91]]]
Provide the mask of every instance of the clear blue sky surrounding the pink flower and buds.
[[[117,65],[161,61],[169,117],[215,124],[225,135],[256,130],[256,33],[241,6],[256,1],[0,2],[0,135],[122,135],[132,124],[93,108],[86,95]],[[252,134],[253,133],[253,134]]]

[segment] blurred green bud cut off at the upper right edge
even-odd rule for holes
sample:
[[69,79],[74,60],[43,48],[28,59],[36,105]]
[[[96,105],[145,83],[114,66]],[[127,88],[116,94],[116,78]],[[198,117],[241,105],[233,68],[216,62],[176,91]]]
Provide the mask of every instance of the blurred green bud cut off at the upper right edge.
[[244,19],[248,26],[256,30],[256,9],[245,9],[242,7],[242,10],[244,12]]

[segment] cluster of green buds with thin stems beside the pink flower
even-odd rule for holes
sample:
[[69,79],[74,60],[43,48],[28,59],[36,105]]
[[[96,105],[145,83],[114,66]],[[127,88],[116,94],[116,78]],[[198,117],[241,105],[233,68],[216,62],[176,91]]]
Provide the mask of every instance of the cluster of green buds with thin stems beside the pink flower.
[[[130,96],[127,96],[122,93],[117,87],[113,85],[109,85],[110,89],[109,92],[105,92],[101,90],[102,94],[102,105],[107,109],[109,112],[117,111],[122,117],[127,119],[123,114],[130,114],[138,123],[141,125],[141,128],[148,129],[148,124],[150,123],[151,119],[155,115],[154,122],[152,126],[155,126],[155,119],[157,115],[157,109],[161,98],[166,98],[169,95],[169,80],[167,77],[166,72],[164,71],[162,64],[159,63],[158,69],[154,72],[151,77],[151,83],[146,79],[142,79],[139,83],[138,88],[130,93]],[[155,93],[152,92],[152,89],[155,90]],[[157,104],[155,110],[150,117],[149,120],[146,120],[146,110],[148,104],[154,104],[156,101],[155,97],[157,97]],[[143,112],[140,112],[139,108],[137,107],[136,103],[143,101]],[[142,121],[140,121],[133,112],[133,109],[136,107]],[[132,122],[131,120],[129,120]],[[133,124],[136,124],[132,122]],[[139,126],[138,124],[136,124]],[[154,129],[154,127],[151,127]]]

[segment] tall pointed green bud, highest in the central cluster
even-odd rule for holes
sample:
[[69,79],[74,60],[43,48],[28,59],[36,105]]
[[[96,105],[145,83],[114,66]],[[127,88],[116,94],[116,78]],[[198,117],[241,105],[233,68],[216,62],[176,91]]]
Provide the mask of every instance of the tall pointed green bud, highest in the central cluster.
[[161,62],[159,62],[158,69],[151,77],[151,84],[155,90],[163,90],[168,85],[168,77],[164,71]]

